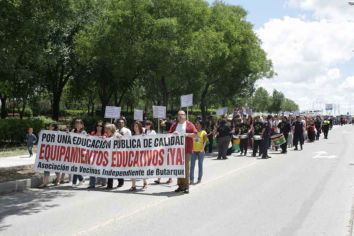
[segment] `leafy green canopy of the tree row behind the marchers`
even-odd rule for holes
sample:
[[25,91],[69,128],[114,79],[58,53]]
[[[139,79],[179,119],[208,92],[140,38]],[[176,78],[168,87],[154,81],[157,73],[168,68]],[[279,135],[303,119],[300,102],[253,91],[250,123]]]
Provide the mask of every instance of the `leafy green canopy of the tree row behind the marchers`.
[[[4,0],[0,9],[3,118],[10,103],[23,113],[48,98],[54,119],[83,105],[173,110],[189,93],[205,117],[274,75],[247,12],[219,1]],[[282,96],[257,90],[254,104],[294,107]]]

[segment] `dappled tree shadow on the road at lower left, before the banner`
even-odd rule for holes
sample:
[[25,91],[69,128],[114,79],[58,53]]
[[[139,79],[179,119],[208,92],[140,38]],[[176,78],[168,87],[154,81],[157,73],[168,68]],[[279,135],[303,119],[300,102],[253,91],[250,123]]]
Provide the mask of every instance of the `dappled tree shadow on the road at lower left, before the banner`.
[[[59,192],[56,189],[30,190],[0,196],[0,232],[11,225],[3,223],[4,219],[14,215],[32,215],[57,207],[51,204],[55,198],[72,197],[74,193]],[[0,233],[1,234],[1,233]]]

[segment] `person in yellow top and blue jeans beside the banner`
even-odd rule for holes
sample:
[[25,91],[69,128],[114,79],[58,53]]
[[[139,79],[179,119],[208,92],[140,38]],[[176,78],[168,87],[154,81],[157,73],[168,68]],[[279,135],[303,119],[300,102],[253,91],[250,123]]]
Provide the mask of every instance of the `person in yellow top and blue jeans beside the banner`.
[[203,123],[202,121],[197,120],[195,123],[197,128],[197,135],[193,139],[193,153],[192,153],[192,160],[191,160],[191,170],[190,170],[190,183],[194,184],[194,168],[195,162],[198,159],[198,182],[199,184],[202,181],[203,177],[203,161],[204,161],[204,148],[205,144],[208,140],[207,132],[203,130]]

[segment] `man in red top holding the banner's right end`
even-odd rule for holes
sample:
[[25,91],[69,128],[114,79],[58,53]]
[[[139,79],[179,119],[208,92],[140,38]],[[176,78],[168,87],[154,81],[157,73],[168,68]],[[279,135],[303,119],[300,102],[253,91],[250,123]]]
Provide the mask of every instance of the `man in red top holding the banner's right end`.
[[173,124],[170,128],[170,133],[174,134],[185,134],[185,177],[178,178],[177,185],[178,188],[175,192],[189,193],[189,170],[190,170],[190,160],[193,152],[193,138],[197,134],[197,129],[194,124],[187,120],[186,113],[181,110],[178,112],[177,123]]

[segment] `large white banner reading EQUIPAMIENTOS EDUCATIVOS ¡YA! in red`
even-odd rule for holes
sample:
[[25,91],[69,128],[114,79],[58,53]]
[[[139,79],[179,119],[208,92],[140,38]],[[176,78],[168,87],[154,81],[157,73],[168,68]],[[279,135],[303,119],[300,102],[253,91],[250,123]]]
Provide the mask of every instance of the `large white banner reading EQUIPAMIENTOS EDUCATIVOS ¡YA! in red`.
[[42,131],[36,170],[103,178],[184,177],[184,135],[124,139]]

